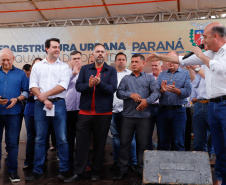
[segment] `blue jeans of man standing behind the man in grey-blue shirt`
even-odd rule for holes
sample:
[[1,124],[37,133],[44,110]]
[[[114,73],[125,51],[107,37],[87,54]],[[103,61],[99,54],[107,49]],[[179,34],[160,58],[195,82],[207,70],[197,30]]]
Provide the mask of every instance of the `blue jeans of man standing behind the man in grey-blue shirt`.
[[[120,125],[122,122],[122,113],[113,113],[110,131],[113,136],[112,145],[113,145],[113,161],[118,161],[119,156],[119,148],[120,148]],[[137,164],[137,155],[136,155],[136,139],[135,134],[133,136],[133,140],[131,142],[130,148],[130,164]]]

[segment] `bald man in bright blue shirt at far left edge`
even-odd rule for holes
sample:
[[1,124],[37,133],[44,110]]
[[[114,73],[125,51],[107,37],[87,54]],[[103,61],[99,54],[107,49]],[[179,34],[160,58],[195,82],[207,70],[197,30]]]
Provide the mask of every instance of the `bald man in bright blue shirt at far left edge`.
[[[19,182],[17,175],[18,137],[20,133],[21,101],[28,97],[28,83],[24,71],[13,66],[13,52],[4,48],[0,52],[0,141],[5,127],[8,151],[7,166],[11,182]],[[22,93],[21,93],[22,92]],[[1,159],[0,148],[0,159]]]

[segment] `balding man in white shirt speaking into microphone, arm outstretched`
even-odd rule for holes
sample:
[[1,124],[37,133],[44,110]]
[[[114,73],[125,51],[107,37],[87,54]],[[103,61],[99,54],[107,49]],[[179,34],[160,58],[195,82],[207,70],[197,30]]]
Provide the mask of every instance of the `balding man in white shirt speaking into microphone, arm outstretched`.
[[206,92],[210,99],[209,121],[210,132],[216,154],[215,169],[221,172],[222,185],[226,185],[226,28],[218,22],[209,24],[204,29],[204,44],[208,51],[202,52],[199,47],[191,51],[195,55],[183,57],[165,56],[151,53],[149,60],[164,60],[186,65],[206,65]]

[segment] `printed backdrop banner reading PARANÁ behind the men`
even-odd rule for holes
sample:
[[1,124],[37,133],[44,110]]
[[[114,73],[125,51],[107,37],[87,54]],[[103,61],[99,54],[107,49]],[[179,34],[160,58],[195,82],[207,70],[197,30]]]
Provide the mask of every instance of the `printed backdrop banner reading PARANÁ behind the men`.
[[[226,19],[214,20],[226,25]],[[188,52],[203,42],[203,30],[213,20],[139,23],[122,25],[3,28],[0,29],[0,50],[10,48],[15,55],[14,65],[22,68],[36,57],[46,56],[44,43],[49,38],[61,41],[60,59],[69,61],[70,52],[83,53],[82,61],[88,62],[96,43],[104,44],[108,63],[114,62],[118,52],[124,52],[128,61],[134,53],[145,56],[151,52],[167,53],[176,50]]]

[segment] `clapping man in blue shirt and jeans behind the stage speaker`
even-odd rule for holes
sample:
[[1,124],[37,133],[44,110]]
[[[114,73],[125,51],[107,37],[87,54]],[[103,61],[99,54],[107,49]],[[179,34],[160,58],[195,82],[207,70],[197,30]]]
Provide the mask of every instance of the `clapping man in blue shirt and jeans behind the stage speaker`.
[[[178,56],[175,51],[169,56]],[[189,72],[179,67],[179,64],[167,62],[168,70],[158,76],[161,86],[159,99],[159,150],[184,150],[187,97],[191,94]]]

